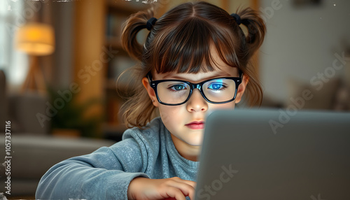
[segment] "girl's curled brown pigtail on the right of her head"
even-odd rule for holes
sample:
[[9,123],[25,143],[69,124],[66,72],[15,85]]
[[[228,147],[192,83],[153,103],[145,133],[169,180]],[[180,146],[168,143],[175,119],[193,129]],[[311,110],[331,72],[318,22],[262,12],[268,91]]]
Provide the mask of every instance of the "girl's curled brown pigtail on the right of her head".
[[238,10],[237,15],[241,17],[241,24],[244,24],[248,29],[245,43],[248,50],[248,58],[250,58],[260,48],[262,41],[264,41],[266,33],[265,22],[258,11],[251,8]]

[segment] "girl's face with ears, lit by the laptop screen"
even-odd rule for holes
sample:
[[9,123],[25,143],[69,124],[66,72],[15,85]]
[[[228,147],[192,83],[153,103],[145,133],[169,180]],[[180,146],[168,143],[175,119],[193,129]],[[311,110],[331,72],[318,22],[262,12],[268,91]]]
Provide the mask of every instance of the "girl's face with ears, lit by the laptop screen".
[[[153,80],[186,80],[190,83],[201,83],[204,80],[220,77],[239,77],[238,69],[227,66],[216,54],[216,51],[211,55],[214,57],[216,65],[215,71],[200,72],[200,73],[155,73]],[[200,90],[193,90],[190,99],[179,106],[167,106],[159,103],[155,96],[154,90],[148,84],[147,78],[144,78],[144,85],[148,90],[148,94],[153,101],[153,105],[159,108],[160,117],[165,127],[172,134],[174,145],[179,153],[186,158],[197,157],[202,145],[204,135],[204,124],[206,116],[213,110],[217,109],[233,109],[235,103],[241,101],[241,97],[246,88],[246,81],[243,80],[237,90],[235,101],[229,103],[214,104],[209,103],[202,97]],[[158,93],[159,94],[159,93]]]

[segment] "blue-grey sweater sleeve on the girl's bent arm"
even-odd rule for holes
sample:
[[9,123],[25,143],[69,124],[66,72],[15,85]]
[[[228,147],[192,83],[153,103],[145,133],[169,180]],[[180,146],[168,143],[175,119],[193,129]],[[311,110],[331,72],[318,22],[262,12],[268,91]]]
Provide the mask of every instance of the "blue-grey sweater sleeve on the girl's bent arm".
[[36,199],[127,199],[127,187],[146,173],[147,152],[127,138],[110,148],[73,157],[52,166],[41,178]]

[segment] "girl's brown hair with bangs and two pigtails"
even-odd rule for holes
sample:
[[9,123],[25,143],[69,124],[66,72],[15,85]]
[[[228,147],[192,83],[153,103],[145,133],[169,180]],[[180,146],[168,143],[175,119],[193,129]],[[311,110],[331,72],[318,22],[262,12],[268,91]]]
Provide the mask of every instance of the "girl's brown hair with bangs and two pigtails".
[[237,67],[249,80],[245,92],[248,104],[260,105],[262,89],[249,61],[262,44],[265,24],[251,8],[238,10],[237,15],[248,29],[247,36],[235,18],[222,8],[204,1],[183,3],[155,22],[144,44],[137,42],[137,33],[146,28],[153,11],[140,11],[129,17],[123,25],[123,47],[141,65],[134,68],[139,75],[134,95],[121,109],[127,127],[144,127],[155,117],[156,109],[141,84],[148,72],[214,71],[212,46],[225,64]]

